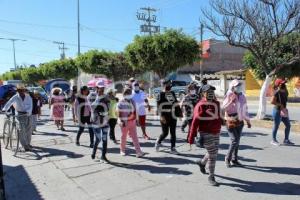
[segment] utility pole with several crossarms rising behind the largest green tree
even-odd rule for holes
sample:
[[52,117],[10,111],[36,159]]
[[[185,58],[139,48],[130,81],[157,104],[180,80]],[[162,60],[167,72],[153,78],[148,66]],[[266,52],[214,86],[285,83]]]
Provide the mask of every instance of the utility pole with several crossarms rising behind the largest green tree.
[[[143,21],[144,24],[140,26],[140,31],[141,33],[148,33],[150,36],[153,33],[159,33],[160,32],[160,26],[153,25],[156,23],[157,16],[155,13],[157,10],[155,8],[150,8],[150,7],[144,7],[140,8],[142,12],[137,12],[136,16],[137,19],[140,21]],[[152,96],[152,91],[151,88],[153,87],[153,71],[150,72],[150,88],[149,88],[149,95]]]

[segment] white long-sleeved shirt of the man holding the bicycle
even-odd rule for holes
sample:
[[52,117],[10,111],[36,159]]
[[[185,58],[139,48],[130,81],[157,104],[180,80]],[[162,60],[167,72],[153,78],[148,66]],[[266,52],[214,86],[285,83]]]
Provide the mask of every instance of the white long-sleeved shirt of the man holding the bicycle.
[[23,100],[19,94],[16,94],[5,104],[2,110],[7,111],[11,106],[13,106],[17,112],[26,112],[27,115],[31,115],[32,98],[29,94],[25,94]]

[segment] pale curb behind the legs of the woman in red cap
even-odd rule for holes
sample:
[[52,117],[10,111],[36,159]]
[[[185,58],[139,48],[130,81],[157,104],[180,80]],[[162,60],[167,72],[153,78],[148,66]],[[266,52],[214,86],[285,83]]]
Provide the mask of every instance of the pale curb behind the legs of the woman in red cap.
[[[252,126],[261,127],[261,128],[268,128],[272,130],[273,121],[267,120],[251,120]],[[284,130],[285,126],[283,123],[280,123],[279,130]],[[300,134],[300,121],[291,121],[291,132]]]

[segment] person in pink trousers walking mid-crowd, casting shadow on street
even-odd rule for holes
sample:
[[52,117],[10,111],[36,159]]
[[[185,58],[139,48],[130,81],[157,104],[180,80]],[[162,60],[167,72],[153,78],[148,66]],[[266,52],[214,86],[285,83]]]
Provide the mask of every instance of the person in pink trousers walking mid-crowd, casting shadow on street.
[[127,135],[132,139],[136,156],[143,157],[145,153],[142,152],[137,131],[136,131],[136,110],[134,102],[132,101],[132,92],[130,88],[126,88],[123,92],[123,99],[118,103],[118,124],[121,127],[121,145],[120,145],[120,154],[125,156],[125,148],[127,142]]

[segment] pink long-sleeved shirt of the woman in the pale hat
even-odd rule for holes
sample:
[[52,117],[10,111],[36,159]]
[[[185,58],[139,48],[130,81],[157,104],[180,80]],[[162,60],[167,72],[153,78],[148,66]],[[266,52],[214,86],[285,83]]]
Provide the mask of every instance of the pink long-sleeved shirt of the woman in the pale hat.
[[[230,99],[236,96],[233,102]],[[223,109],[227,115],[237,114],[239,120],[249,120],[247,99],[244,94],[235,94],[232,91],[228,91],[223,101]]]

